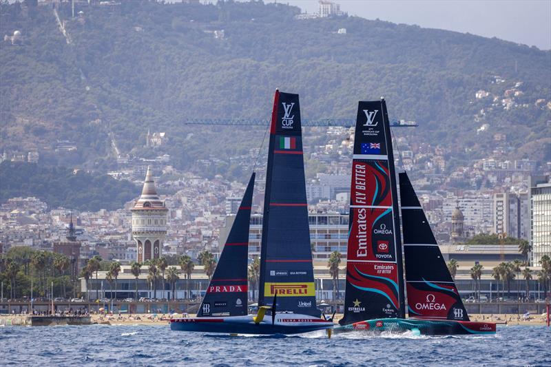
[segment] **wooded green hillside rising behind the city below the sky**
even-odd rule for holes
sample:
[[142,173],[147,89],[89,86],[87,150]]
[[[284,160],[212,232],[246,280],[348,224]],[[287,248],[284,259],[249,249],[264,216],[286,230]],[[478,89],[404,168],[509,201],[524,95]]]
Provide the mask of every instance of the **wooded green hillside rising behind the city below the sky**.
[[[268,118],[279,87],[300,94],[303,118],[353,118],[358,100],[385,96],[391,118],[419,123],[408,132],[413,142],[479,158],[494,145],[491,135],[476,134],[489,123],[507,134],[511,154],[546,159],[549,51],[358,17],[296,20],[298,8],[274,3],[121,2],[77,4],[83,15],[75,19],[62,3],[68,40],[51,6],[0,5],[0,34],[23,34],[22,45],[0,48],[1,149],[39,149],[46,163],[105,170],[116,165],[113,141],[122,154],[147,154],[152,128],[171,137],[155,154],[171,154],[176,168],[187,169],[209,154],[258,147],[263,131],[183,120]],[[475,98],[517,82],[523,94],[515,101],[525,107]],[[535,105],[541,98],[543,107]],[[481,109],[486,120],[475,120]],[[56,154],[57,140],[79,149]],[[536,143],[526,149],[527,142]]]

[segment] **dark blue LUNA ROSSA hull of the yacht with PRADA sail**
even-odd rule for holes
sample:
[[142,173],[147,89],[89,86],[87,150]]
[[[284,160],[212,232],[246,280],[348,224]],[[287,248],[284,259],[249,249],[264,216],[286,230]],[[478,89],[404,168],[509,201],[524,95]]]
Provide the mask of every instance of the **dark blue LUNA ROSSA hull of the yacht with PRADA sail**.
[[271,316],[267,316],[258,324],[253,321],[253,317],[254,315],[174,318],[170,319],[170,329],[202,333],[273,335],[309,333],[334,326],[333,322],[309,315],[277,315],[273,325]]

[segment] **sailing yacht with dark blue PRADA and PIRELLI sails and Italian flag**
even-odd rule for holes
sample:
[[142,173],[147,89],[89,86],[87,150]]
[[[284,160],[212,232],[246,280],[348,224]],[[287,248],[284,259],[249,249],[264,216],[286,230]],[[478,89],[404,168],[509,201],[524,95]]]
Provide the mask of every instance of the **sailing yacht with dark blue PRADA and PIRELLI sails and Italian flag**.
[[[333,327],[320,318],[310,247],[298,94],[275,90],[270,125],[259,311],[247,315],[247,249],[254,174],[197,317],[170,320],[171,330],[295,334]],[[268,314],[271,317],[265,317]]]

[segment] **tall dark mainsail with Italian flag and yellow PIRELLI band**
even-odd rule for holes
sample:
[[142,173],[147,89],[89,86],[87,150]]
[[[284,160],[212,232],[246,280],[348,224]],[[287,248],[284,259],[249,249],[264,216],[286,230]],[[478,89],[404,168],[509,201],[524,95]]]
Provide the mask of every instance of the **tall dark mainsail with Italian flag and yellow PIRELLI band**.
[[315,304],[298,94],[275,91],[270,126],[259,306],[320,315]]

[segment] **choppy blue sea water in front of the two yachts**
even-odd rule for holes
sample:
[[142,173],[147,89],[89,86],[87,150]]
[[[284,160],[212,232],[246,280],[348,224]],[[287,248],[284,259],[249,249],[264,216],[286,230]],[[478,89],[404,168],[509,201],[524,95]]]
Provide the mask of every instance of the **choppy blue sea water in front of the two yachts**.
[[169,326],[4,326],[1,366],[551,366],[545,326],[496,335],[426,337],[325,331],[229,336]]

